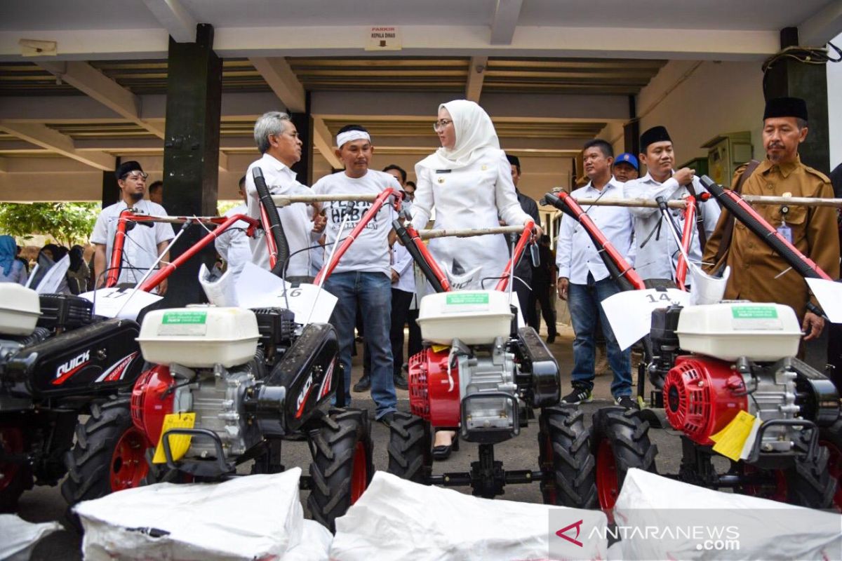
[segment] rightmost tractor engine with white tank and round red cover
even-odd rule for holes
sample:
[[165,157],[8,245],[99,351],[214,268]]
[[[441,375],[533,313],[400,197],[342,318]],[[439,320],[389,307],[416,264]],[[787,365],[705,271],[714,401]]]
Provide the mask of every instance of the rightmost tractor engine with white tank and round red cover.
[[[801,330],[791,308],[671,306],[653,313],[653,326],[653,365],[663,380],[667,419],[693,442],[713,445],[711,435],[745,411],[773,421],[759,431],[760,452],[789,453],[806,426],[796,420],[823,426],[838,415],[834,385],[793,357]],[[696,354],[679,355],[679,347]]]

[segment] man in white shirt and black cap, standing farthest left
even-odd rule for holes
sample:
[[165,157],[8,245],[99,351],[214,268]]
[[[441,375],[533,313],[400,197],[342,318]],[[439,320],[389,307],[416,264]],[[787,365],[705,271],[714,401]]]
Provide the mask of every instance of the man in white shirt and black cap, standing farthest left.
[[[147,174],[136,161],[125,161],[115,171],[117,186],[120,187],[120,201],[105,207],[93,225],[93,273],[97,288],[105,283],[106,270],[111,262],[111,251],[117,232],[117,221],[123,210],[131,208],[136,214],[166,216],[163,206],[143,198],[147,188]],[[130,230],[131,228],[131,230]],[[123,244],[123,259],[120,263],[120,277],[117,283],[136,284],[155,263],[169,241],[173,239],[173,227],[163,222],[129,223]],[[163,256],[163,262],[169,254]],[[167,292],[167,280],[157,286],[157,294]]]

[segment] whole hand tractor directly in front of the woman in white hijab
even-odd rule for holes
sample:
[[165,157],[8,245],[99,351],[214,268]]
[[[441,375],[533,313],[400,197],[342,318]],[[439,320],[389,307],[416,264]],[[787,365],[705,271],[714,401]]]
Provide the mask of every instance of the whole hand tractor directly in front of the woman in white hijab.
[[[583,477],[594,462],[584,415],[559,405],[558,364],[534,329],[518,327],[511,293],[505,292],[534,224],[520,230],[495,290],[453,290],[419,232],[397,221],[394,227],[436,294],[421,301],[424,350],[409,358],[412,414],[398,413],[392,422],[389,472],[421,484],[470,485],[473,495],[486,498],[504,494],[506,484],[538,482],[549,504],[593,507],[594,483]],[[541,410],[539,467],[504,469],[494,459],[494,445],[517,437],[535,409]],[[435,430],[477,442],[479,459],[470,472],[433,474]]]

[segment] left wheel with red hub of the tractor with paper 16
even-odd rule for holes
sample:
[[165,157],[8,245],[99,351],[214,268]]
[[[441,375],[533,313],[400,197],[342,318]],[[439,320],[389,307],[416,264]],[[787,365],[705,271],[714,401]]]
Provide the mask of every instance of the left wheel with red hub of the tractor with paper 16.
[[146,435],[131,422],[129,400],[92,405],[76,427],[76,445],[65,454],[67,479],[61,495],[69,505],[146,484]]

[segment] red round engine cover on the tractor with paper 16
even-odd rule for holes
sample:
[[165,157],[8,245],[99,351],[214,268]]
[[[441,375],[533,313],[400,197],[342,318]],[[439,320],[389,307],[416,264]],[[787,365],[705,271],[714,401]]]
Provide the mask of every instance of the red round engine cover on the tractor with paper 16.
[[173,412],[175,392],[167,392],[173,384],[169,368],[159,364],[142,373],[131,389],[131,421],[152,445],[161,440],[164,416]]

